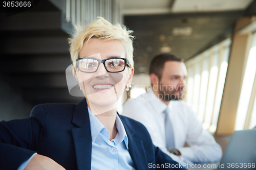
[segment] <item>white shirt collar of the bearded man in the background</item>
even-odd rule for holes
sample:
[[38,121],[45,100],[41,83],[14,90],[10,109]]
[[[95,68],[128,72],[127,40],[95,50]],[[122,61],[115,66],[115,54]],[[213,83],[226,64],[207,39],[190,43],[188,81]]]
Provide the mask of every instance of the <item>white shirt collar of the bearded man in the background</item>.
[[150,93],[150,98],[151,100],[149,100],[152,104],[152,106],[154,107],[154,109],[157,111],[157,113],[161,114],[163,113],[164,110],[166,110],[166,108],[169,109],[169,111],[172,110],[173,108],[173,101],[170,101],[169,104],[166,106],[157,96],[156,94],[150,90],[148,91],[148,93]]

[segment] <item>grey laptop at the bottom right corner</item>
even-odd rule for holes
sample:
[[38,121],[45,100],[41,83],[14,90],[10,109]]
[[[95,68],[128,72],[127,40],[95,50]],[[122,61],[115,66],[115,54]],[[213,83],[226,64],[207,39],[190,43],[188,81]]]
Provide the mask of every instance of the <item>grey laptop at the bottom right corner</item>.
[[199,166],[186,168],[189,170],[256,169],[256,129],[235,131],[220,163],[198,163],[197,165],[200,168]]

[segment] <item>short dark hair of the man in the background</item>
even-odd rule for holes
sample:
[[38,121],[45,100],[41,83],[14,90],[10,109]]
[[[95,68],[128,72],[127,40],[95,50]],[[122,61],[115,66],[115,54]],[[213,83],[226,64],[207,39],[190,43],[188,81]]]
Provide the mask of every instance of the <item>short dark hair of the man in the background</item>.
[[173,54],[159,54],[151,61],[150,74],[154,73],[155,75],[157,75],[159,80],[161,80],[164,63],[166,61],[183,62],[183,60],[181,58],[179,58]]

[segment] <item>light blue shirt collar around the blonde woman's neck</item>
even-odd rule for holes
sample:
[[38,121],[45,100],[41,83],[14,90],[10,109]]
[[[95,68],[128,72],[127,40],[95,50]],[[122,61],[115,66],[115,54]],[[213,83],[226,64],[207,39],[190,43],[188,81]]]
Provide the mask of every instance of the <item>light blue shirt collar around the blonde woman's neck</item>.
[[[99,121],[99,119],[94,115],[94,113],[91,111],[91,109],[88,107],[88,112],[89,112],[89,118],[90,118],[90,126],[91,126],[91,135],[92,135],[92,141],[95,142],[96,137],[99,135],[99,133],[101,132],[102,129],[105,129],[106,131],[108,131],[108,129],[106,129],[101,122]],[[116,115],[116,128],[118,130],[118,133],[115,137],[115,139],[113,139],[113,141],[118,144],[122,141],[124,141],[126,148],[128,149],[128,137],[127,134],[125,132],[123,123],[120,119],[120,117],[118,116],[118,114]]]

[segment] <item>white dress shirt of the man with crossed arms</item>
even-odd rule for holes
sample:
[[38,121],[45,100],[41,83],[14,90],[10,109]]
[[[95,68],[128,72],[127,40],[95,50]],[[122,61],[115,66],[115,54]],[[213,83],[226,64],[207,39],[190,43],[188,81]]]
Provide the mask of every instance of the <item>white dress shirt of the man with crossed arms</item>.
[[[170,101],[170,120],[174,130],[175,148],[181,156],[170,154],[166,149],[164,113],[166,105],[153,91],[147,91],[136,99],[129,99],[123,105],[122,115],[142,123],[150,133],[153,143],[163,152],[180,163],[217,162],[222,149],[214,137],[202,128],[197,115],[184,101]],[[184,147],[185,142],[189,147]],[[190,162],[191,161],[191,162]]]

